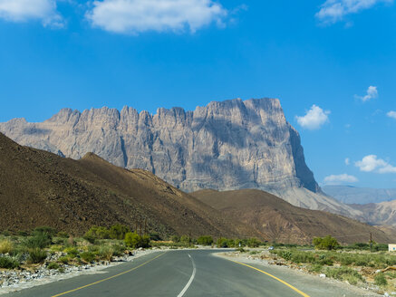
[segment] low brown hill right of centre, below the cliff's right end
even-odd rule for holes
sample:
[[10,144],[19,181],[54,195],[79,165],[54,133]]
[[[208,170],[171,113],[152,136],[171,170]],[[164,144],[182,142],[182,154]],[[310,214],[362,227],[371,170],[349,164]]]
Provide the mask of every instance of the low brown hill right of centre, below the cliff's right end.
[[192,195],[223,216],[266,234],[271,241],[310,244],[315,236],[333,235],[341,243],[353,244],[368,242],[370,233],[379,243],[389,243],[396,238],[396,235],[386,235],[378,228],[351,218],[292,206],[256,189],[200,190]]

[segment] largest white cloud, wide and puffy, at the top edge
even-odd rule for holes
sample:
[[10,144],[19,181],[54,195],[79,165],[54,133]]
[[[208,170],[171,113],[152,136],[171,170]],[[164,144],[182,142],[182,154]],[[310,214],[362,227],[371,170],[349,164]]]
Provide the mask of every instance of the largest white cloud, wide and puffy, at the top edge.
[[212,0],[103,0],[94,1],[86,14],[92,26],[119,34],[189,29],[222,24],[227,10]]

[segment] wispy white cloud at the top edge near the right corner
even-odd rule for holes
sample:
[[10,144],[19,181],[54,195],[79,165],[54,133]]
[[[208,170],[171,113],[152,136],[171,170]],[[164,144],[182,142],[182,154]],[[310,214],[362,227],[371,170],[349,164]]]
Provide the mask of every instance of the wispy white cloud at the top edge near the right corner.
[[327,0],[315,14],[323,24],[343,21],[348,14],[357,14],[379,3],[392,3],[393,0]]

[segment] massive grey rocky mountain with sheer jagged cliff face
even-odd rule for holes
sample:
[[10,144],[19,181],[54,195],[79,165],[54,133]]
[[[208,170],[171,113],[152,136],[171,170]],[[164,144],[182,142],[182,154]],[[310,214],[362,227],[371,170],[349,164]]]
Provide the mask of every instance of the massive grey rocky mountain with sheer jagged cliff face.
[[257,188],[295,206],[360,216],[322,193],[305,164],[299,134],[276,99],[213,101],[194,111],[160,108],[155,115],[129,107],[63,109],[40,123],[0,123],[0,131],[63,157],[92,151],[188,192]]

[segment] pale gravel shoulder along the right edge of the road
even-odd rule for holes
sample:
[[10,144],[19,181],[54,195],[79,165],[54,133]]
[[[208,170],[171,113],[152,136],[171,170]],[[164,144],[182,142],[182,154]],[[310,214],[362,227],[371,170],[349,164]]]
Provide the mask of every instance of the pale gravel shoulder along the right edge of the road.
[[295,270],[288,266],[274,265],[268,263],[266,259],[256,259],[247,254],[239,254],[236,252],[227,252],[214,254],[227,260],[246,263],[258,269],[262,269],[266,273],[274,274],[287,283],[294,285],[299,290],[310,296],[320,297],[356,297],[356,296],[384,296],[368,290],[343,283],[330,278],[321,278],[318,275],[305,273],[302,270]]

